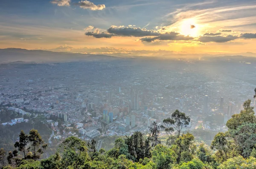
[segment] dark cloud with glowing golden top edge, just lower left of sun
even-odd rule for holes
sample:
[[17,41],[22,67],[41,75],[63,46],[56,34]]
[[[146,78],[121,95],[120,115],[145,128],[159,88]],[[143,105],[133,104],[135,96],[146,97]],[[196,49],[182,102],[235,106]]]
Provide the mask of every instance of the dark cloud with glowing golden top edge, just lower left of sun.
[[160,34],[157,37],[144,37],[144,38],[141,38],[140,40],[142,42],[153,42],[155,40],[192,40],[192,39],[194,39],[194,38],[189,37],[189,36],[180,35],[177,32],[169,32],[166,34]]

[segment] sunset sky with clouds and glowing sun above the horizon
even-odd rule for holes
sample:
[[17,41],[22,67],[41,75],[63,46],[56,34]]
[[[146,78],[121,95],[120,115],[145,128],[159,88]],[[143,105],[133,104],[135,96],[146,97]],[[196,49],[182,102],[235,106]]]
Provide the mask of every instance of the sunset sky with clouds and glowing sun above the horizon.
[[0,0],[0,48],[256,53],[255,0]]

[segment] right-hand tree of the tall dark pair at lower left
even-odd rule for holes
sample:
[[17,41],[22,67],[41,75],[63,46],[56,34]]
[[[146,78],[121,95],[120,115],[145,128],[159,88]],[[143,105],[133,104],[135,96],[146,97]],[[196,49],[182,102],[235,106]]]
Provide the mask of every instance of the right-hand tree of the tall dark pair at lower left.
[[32,159],[36,161],[40,158],[41,154],[44,153],[43,150],[47,148],[47,144],[44,144],[44,140],[41,138],[38,130],[35,129],[29,131],[28,138],[31,142],[28,150],[32,151]]

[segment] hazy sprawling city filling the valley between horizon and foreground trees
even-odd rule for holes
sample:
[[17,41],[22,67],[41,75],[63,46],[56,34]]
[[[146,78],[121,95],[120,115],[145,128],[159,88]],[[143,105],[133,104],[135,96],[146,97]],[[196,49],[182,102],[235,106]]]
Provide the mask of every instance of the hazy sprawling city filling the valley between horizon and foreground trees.
[[[27,125],[26,132],[37,129],[48,144],[44,158],[70,136],[96,140],[95,149],[109,150],[116,138],[134,132],[148,135],[154,122],[161,126],[179,110],[190,118],[181,132],[211,145],[218,132],[228,130],[227,121],[243,110],[245,100],[252,99],[254,106],[252,63],[243,57],[111,57],[109,61],[2,64],[0,123],[1,130],[12,134],[0,144],[13,148]],[[163,144],[167,136],[160,130]]]

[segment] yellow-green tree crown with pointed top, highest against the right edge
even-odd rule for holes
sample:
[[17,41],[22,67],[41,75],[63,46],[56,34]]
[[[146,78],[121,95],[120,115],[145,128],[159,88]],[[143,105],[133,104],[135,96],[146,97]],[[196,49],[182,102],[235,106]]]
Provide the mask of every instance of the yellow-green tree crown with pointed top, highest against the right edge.
[[232,115],[227,121],[226,126],[230,130],[236,130],[237,127],[242,125],[243,123],[256,123],[256,117],[254,115],[253,107],[250,106],[251,100],[248,99],[244,102],[244,110],[241,110],[239,114]]

